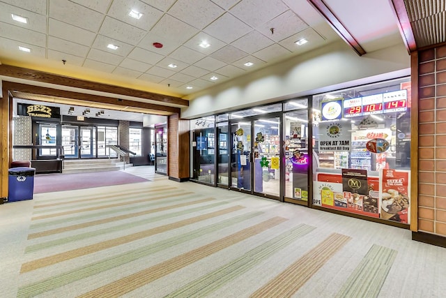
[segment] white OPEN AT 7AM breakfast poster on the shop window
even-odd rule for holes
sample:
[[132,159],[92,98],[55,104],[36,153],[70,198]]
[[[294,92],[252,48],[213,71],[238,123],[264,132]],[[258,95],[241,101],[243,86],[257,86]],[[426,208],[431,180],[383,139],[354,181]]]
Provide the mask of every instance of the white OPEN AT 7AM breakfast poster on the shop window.
[[319,124],[319,151],[350,151],[351,123],[331,121]]

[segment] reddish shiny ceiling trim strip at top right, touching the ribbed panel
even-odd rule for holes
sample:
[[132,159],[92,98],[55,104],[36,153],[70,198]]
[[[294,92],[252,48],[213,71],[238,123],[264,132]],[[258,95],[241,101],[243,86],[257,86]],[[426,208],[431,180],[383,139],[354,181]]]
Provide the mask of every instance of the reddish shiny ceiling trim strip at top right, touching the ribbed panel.
[[410,24],[404,0],[389,0],[389,2],[395,17],[398,19],[399,33],[401,33],[404,45],[406,45],[406,49],[410,54],[410,52],[417,50],[417,43],[415,42],[415,36],[413,35],[412,25]]

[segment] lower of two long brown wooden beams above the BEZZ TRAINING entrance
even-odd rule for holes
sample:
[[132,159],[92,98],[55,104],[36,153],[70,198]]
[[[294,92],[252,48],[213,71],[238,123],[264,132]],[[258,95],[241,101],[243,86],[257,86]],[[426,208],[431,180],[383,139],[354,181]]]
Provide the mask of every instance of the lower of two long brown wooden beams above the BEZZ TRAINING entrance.
[[[124,107],[141,107],[146,110],[160,111],[160,112],[169,112],[171,114],[179,114],[179,107],[169,107],[166,105],[155,105],[153,103],[141,103],[139,101],[134,100],[125,100],[120,98],[112,98],[107,96],[98,96],[92,94],[83,94],[80,92],[74,91],[66,91],[60,89],[53,89],[48,87],[38,87],[28,84],[15,83],[15,82],[6,82],[3,81],[3,88],[10,91],[20,91],[29,94],[40,94],[45,96],[55,96],[61,98],[69,98],[75,100],[82,100],[88,103],[105,103],[111,105],[120,105]],[[113,110],[113,109],[110,109]]]

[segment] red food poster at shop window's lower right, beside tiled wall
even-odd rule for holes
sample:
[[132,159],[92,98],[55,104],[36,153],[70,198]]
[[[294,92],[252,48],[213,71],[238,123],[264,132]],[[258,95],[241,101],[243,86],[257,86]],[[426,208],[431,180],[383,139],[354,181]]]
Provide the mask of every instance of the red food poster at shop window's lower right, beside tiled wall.
[[381,218],[410,223],[410,172],[382,170]]

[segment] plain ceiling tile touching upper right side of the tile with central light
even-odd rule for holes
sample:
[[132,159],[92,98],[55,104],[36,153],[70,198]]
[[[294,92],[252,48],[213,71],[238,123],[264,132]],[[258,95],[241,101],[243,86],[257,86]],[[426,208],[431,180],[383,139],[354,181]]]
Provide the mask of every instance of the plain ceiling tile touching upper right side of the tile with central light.
[[234,40],[246,35],[251,30],[251,27],[238,20],[238,18],[230,13],[225,13],[222,17],[203,29],[203,31],[210,36],[223,40],[225,43],[232,43]]

